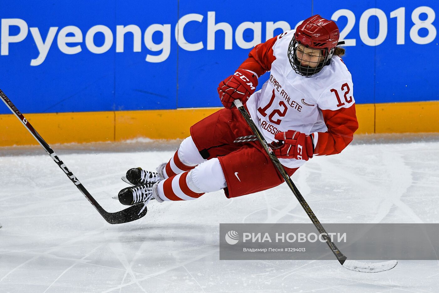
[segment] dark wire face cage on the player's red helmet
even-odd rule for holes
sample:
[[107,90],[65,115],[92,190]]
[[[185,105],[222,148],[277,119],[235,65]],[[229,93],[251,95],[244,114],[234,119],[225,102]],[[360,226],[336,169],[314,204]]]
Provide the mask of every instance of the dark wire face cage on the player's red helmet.
[[[324,59],[318,63],[306,60],[309,62],[309,65],[302,65],[301,61],[303,59],[299,58],[297,55],[299,45],[301,45],[301,43],[295,39],[295,36],[293,36],[290,45],[288,46],[288,59],[294,71],[302,76],[312,76],[319,73],[325,65],[329,64],[329,61],[332,58],[332,54],[335,50],[334,48],[332,48],[331,51],[328,51],[328,48],[311,48],[319,51],[319,55],[316,55],[316,57],[318,57],[317,60],[319,60],[320,57],[324,57]],[[306,45],[303,46],[308,47]],[[306,53],[302,53],[301,55],[303,56],[303,54]],[[315,66],[311,67],[310,65]]]

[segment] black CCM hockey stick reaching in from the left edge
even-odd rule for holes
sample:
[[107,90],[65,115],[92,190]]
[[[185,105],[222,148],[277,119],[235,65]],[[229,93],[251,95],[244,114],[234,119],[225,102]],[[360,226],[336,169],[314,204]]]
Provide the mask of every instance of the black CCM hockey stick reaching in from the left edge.
[[[3,99],[4,103],[7,107],[14,113],[15,116],[23,123],[23,125],[29,130],[32,136],[40,143],[40,145],[44,148],[44,150],[49,154],[49,156],[58,164],[58,166],[63,170],[63,172],[67,175],[67,177],[76,185],[80,192],[88,199],[88,201],[96,208],[96,210],[101,214],[101,216],[110,224],[122,224],[126,222],[131,222],[137,219],[140,219],[147,213],[146,206],[143,205],[134,205],[130,206],[125,210],[121,210],[115,213],[109,213],[104,210],[99,203],[90,195],[90,193],[85,189],[83,184],[79,182],[75,175],[73,175],[72,171],[67,168],[65,163],[63,163],[59,157],[55,154],[52,148],[44,141],[43,137],[36,132],[36,130],[32,127],[29,121],[23,116],[23,114],[18,111],[17,107],[11,102],[9,98],[4,94],[2,90],[0,90],[0,96]],[[144,208],[144,209],[143,209]],[[143,210],[142,210],[143,209]]]

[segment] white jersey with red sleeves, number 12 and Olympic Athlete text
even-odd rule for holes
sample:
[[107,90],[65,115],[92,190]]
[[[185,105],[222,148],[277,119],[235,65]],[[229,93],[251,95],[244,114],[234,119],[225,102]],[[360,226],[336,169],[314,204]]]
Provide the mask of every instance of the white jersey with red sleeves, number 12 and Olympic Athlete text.
[[[301,76],[288,60],[288,46],[295,30],[287,31],[252,49],[239,68],[270,78],[246,106],[267,142],[280,131],[297,130],[314,138],[315,155],[341,152],[358,128],[352,77],[336,55],[313,76]],[[289,168],[305,161],[280,159]]]

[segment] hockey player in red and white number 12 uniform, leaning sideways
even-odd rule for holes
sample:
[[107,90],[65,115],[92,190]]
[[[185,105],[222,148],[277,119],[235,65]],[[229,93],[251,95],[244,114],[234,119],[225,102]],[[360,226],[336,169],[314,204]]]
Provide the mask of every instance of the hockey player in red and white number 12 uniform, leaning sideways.
[[[341,152],[358,128],[352,77],[339,57],[335,22],[314,15],[296,30],[261,43],[219,83],[224,109],[191,127],[191,136],[157,172],[133,168],[134,185],[119,192],[125,205],[197,199],[224,189],[228,198],[259,192],[284,180],[236,107],[241,100],[291,176],[313,156]],[[255,92],[259,76],[269,80]]]

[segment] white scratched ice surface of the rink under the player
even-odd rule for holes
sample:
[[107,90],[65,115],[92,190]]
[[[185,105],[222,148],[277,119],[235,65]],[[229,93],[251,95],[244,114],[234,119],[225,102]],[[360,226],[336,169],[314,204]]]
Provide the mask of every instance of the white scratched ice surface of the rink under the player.
[[[111,198],[126,187],[120,176],[155,168],[177,145],[54,149],[104,209],[116,211],[124,208]],[[311,159],[292,179],[322,223],[439,223],[437,139],[360,137],[340,155]],[[337,260],[220,261],[219,223],[309,223],[285,184],[235,199],[216,192],[151,202],[139,221],[110,225],[35,146],[0,148],[0,187],[0,292],[438,292],[438,261],[400,260],[377,274]]]

